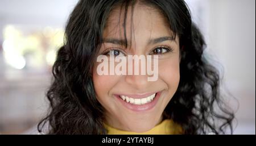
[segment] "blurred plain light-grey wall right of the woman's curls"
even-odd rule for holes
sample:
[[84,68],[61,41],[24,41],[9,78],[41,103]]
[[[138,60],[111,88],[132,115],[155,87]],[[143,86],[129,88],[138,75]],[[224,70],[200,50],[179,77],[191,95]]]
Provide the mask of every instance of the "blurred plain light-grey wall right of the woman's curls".
[[208,36],[224,85],[240,104],[235,134],[255,134],[255,1],[209,1]]

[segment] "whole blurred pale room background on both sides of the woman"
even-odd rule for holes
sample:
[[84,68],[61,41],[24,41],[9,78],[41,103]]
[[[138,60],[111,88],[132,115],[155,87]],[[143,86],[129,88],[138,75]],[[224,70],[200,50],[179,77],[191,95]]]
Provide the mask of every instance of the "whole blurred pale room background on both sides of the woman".
[[[236,99],[234,134],[255,134],[255,1],[186,0]],[[0,0],[0,134],[36,134],[64,27],[77,0]],[[239,107],[237,109],[237,105]]]

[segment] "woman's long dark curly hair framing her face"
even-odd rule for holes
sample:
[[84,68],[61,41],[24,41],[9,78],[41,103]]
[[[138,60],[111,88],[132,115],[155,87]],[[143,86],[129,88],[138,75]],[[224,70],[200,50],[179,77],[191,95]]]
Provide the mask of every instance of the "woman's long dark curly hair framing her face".
[[[106,134],[104,109],[93,87],[93,62],[110,12],[121,7],[126,21],[128,7],[134,7],[137,2],[81,0],[77,3],[65,28],[65,44],[57,52],[52,68],[54,78],[47,92],[51,108],[38,124],[39,132],[49,124],[48,134]],[[232,133],[234,114],[222,101],[219,73],[205,59],[205,41],[191,20],[187,4],[183,0],[139,2],[160,10],[180,39],[179,87],[164,110],[164,117],[180,124],[184,134],[225,134],[227,127]]]

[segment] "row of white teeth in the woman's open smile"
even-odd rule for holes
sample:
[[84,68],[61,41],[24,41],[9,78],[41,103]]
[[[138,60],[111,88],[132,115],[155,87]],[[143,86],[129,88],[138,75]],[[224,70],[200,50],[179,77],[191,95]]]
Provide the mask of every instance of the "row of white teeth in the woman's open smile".
[[133,105],[144,105],[151,102],[155,98],[155,95],[156,93],[141,99],[126,97],[124,95],[121,95],[120,97],[123,99],[123,101],[126,101],[127,103],[131,103]]

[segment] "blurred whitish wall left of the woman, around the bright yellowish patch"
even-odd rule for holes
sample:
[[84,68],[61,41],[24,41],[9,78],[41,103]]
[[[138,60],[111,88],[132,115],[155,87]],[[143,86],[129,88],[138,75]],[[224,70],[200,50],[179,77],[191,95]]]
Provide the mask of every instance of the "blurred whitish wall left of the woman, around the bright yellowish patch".
[[[34,65],[33,68],[25,66],[22,69],[15,69],[7,64],[3,55],[4,29],[11,26],[24,37],[36,38],[55,28],[63,30],[76,2],[77,0],[0,1],[0,133],[20,134],[31,127],[35,128],[33,126],[46,113],[48,104],[45,94],[51,83],[51,66],[46,61]],[[44,53],[52,49],[48,45],[52,40],[42,38],[46,39],[40,37],[37,40],[43,43],[41,48],[34,48],[33,52],[40,50],[40,57],[45,57]],[[35,42],[27,43],[29,46]],[[28,54],[28,59],[29,55],[34,57],[31,63],[37,61],[34,54]]]

